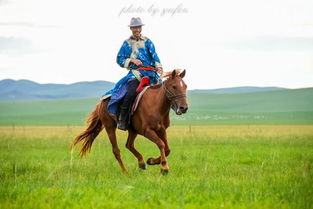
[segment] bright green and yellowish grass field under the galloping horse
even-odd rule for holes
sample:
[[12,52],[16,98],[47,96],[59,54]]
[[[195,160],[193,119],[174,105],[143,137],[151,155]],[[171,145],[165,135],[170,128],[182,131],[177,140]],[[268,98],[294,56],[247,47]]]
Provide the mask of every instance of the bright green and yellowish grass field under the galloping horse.
[[[0,127],[0,208],[313,208],[313,125],[169,129],[170,172],[141,171],[118,132],[128,174],[102,133],[83,159],[83,127]],[[138,137],[145,159],[157,147]]]

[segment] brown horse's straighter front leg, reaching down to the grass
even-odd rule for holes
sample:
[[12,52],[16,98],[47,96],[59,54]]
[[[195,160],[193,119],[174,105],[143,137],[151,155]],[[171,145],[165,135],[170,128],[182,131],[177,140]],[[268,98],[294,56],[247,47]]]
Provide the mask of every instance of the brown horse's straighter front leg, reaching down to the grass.
[[169,170],[169,167],[168,167],[166,154],[165,154],[166,145],[164,141],[158,136],[158,134],[153,129],[150,129],[150,128],[146,129],[144,136],[150,139],[151,141],[153,141],[159,147],[161,156],[160,156],[159,163],[156,163],[156,164],[161,164],[161,173],[166,174]]

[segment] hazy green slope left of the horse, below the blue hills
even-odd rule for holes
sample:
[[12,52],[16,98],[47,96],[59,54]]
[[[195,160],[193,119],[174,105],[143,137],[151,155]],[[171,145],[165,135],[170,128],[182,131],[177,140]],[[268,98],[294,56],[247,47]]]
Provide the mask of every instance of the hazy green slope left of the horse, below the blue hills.
[[83,125],[98,98],[0,103],[0,125]]

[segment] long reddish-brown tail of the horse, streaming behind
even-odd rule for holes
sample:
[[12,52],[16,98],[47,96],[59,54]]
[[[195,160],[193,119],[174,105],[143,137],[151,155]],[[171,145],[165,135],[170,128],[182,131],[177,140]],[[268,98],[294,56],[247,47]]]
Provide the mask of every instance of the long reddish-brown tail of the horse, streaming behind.
[[101,111],[104,110],[104,104],[103,100],[100,101],[93,112],[91,112],[87,119],[88,127],[85,131],[83,131],[81,134],[79,134],[71,145],[71,150],[74,149],[74,146],[81,142],[83,143],[82,148],[80,150],[79,155],[83,157],[91,150],[91,146],[95,138],[98,136],[98,134],[103,129],[103,124],[100,119]]

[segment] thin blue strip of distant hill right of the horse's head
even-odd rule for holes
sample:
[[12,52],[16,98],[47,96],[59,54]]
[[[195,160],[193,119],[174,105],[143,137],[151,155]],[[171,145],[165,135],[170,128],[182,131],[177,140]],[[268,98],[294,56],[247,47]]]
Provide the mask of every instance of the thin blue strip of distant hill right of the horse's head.
[[241,94],[241,93],[253,93],[263,91],[277,91],[285,90],[281,87],[255,87],[255,86],[241,86],[233,88],[220,88],[220,89],[195,89],[190,90],[190,93],[212,93],[212,94]]

